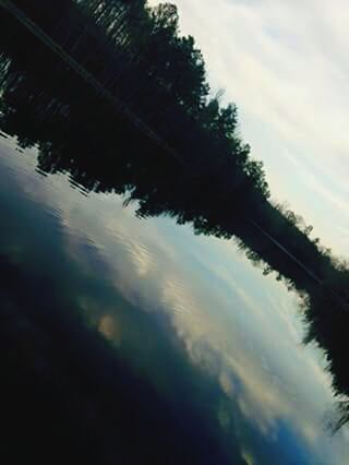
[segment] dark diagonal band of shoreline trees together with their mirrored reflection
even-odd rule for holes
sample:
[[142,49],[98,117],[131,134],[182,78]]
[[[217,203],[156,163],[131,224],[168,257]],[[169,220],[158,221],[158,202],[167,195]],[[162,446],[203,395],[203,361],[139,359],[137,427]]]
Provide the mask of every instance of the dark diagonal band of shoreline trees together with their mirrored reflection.
[[[137,201],[140,216],[168,215],[197,234],[237,237],[265,274],[276,272],[303,296],[306,341],[324,348],[336,392],[349,395],[348,269],[310,239],[311,227],[300,217],[268,201],[262,165],[238,135],[236,107],[208,98],[202,55],[191,37],[179,35],[176,8],[149,10],[144,1],[121,0],[65,0],[59,9],[44,3],[16,1],[181,159],[137,132],[5,14],[1,128],[22,146],[38,145],[41,170],[68,171],[87,190],[124,194],[125,202]],[[348,404],[340,405],[338,425],[348,418]]]

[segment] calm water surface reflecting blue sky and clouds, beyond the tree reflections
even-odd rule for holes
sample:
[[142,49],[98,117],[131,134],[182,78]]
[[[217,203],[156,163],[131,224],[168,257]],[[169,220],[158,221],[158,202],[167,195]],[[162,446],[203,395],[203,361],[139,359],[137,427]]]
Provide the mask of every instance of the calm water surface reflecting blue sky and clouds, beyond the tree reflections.
[[347,463],[296,294],[0,143],[3,463]]

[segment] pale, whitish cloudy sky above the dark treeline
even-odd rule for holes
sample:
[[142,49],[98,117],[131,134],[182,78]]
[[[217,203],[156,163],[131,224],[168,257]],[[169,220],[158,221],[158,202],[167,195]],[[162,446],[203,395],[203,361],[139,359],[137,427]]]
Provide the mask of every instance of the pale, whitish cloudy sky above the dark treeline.
[[[173,0],[214,92],[234,102],[273,199],[349,258],[349,5],[345,0]],[[149,4],[159,3],[149,0]]]

